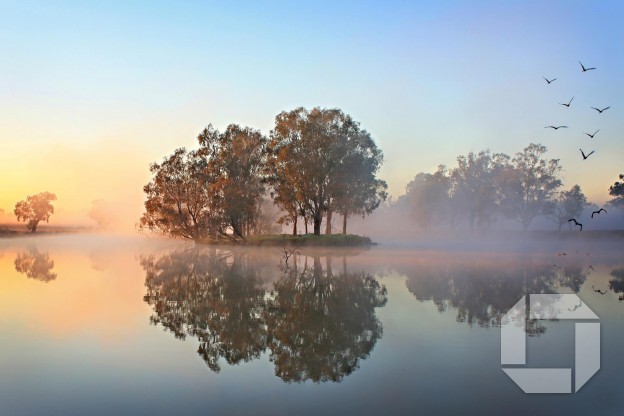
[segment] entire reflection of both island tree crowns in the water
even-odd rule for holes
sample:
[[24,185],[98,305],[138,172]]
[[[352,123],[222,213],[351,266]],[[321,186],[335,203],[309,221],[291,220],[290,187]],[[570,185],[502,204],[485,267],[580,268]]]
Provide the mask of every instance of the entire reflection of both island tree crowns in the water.
[[267,267],[253,254],[216,249],[144,257],[144,299],[153,324],[199,340],[212,371],[221,358],[239,364],[268,349],[284,381],[340,381],[381,337],[375,308],[385,305],[386,289],[369,274],[348,273],[346,258],[341,273],[324,260],[325,267],[318,256]]

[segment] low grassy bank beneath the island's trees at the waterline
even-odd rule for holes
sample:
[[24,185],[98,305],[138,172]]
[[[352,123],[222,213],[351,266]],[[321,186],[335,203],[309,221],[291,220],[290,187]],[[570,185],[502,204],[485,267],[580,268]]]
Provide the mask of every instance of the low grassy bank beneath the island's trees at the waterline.
[[[197,240],[198,244],[223,244],[223,240]],[[296,247],[360,247],[373,245],[370,238],[355,234],[330,234],[330,235],[289,235],[271,234],[254,235],[247,238],[243,243],[248,246],[296,246]]]

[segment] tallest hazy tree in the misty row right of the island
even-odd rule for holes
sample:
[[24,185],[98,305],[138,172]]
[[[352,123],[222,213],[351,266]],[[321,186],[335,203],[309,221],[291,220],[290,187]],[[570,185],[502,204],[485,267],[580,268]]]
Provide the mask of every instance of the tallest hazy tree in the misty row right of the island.
[[561,186],[559,159],[543,159],[546,151],[546,146],[531,143],[511,163],[504,162],[497,175],[501,209],[525,231],[535,217],[552,213]]

